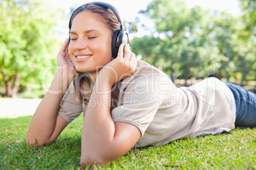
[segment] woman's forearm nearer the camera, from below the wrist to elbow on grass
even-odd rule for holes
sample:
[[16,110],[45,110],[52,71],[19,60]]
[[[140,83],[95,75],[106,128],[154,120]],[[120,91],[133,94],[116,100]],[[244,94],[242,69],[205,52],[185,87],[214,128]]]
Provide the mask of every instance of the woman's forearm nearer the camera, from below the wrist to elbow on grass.
[[82,160],[97,157],[99,162],[104,162],[102,159],[113,160],[122,156],[113,148],[116,129],[110,114],[111,86],[106,79],[98,77],[96,80],[83,122]]

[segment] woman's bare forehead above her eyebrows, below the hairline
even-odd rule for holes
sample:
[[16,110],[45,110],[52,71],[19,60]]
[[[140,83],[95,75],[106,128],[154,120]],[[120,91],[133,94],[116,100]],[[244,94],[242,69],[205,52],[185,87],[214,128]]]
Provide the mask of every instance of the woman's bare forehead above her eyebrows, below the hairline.
[[84,29],[88,27],[93,27],[94,29],[108,29],[103,22],[103,18],[99,14],[90,11],[82,11],[73,18],[71,30],[80,27]]

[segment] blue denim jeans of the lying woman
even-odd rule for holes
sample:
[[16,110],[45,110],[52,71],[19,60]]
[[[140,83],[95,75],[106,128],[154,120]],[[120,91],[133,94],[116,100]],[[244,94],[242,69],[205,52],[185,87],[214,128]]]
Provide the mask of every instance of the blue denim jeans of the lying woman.
[[256,127],[256,94],[241,86],[224,82],[236,101],[236,122],[239,127]]

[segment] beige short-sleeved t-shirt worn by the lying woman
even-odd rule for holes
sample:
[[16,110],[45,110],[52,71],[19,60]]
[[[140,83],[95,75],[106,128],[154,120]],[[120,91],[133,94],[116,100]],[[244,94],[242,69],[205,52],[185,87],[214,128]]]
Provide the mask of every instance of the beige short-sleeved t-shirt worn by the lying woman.
[[[114,122],[128,122],[141,131],[135,147],[162,145],[220,128],[234,129],[223,84],[216,78],[204,79],[189,88],[176,88],[166,74],[138,60],[134,74],[120,83],[118,107],[111,115]],[[86,108],[71,83],[58,114],[71,122]]]

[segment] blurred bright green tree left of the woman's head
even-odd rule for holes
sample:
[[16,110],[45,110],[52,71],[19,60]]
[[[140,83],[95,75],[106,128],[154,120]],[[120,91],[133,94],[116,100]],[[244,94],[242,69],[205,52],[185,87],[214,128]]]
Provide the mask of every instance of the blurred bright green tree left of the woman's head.
[[42,1],[0,2],[0,75],[3,96],[15,97],[28,84],[41,84],[41,71],[53,61],[56,18]]

